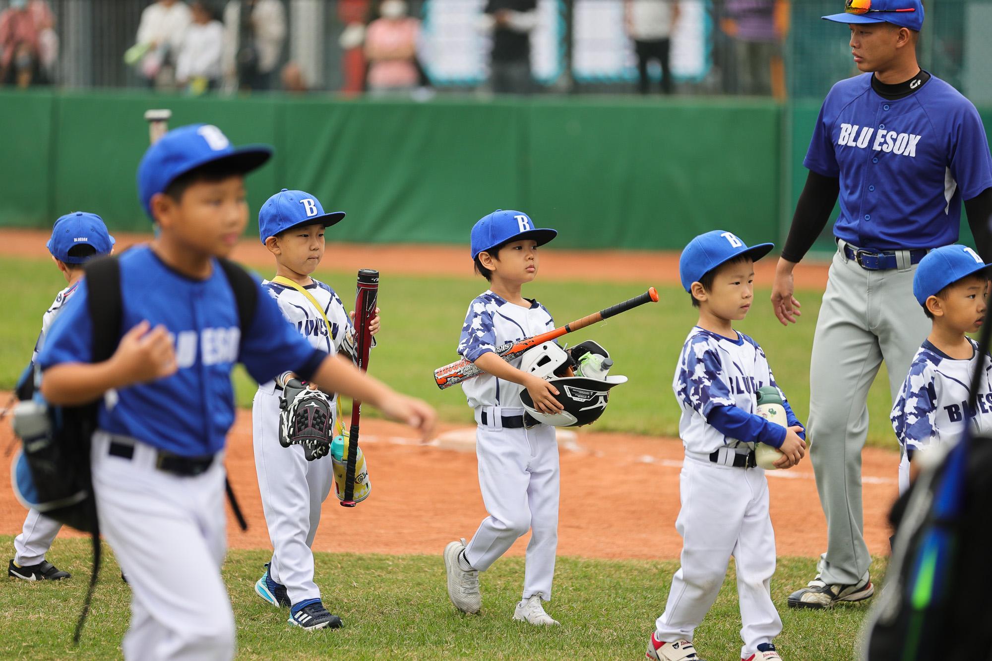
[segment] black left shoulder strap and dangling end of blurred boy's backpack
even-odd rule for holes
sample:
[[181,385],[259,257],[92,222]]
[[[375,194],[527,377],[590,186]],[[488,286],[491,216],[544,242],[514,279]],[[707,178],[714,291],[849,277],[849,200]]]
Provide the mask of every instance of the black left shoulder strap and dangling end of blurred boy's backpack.
[[[121,326],[124,319],[124,306],[121,299],[121,271],[116,257],[102,257],[86,264],[86,303],[89,309],[89,322],[92,327],[93,362],[102,362],[114,354],[120,341]],[[96,415],[99,403],[91,405],[91,415]],[[88,444],[87,444],[88,452]],[[92,490],[92,485],[90,485]],[[96,516],[96,497],[89,499],[93,529],[90,539],[93,542],[93,571],[89,575],[89,587],[82,602],[82,611],[75,623],[72,634],[73,644],[79,643],[82,635],[82,625],[89,614],[89,606],[96,590],[96,580],[100,575],[102,547],[100,545],[100,524]]]

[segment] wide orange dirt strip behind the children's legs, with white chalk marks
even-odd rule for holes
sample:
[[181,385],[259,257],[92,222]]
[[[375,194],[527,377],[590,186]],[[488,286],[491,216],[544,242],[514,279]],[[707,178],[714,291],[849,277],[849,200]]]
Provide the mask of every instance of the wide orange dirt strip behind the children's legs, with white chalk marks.
[[[452,539],[471,537],[485,516],[474,453],[445,449],[436,441],[421,444],[401,425],[370,420],[363,427],[372,494],[354,509],[339,507],[331,495],[314,550],[439,554]],[[452,429],[447,426],[442,432]],[[9,446],[11,437],[9,422],[0,423],[0,449]],[[579,433],[560,450],[559,555],[678,558],[680,442]],[[12,495],[10,462],[5,457],[0,469],[0,534],[15,535],[25,510]],[[873,554],[888,553],[885,517],[898,491],[898,463],[896,453],[870,448],[864,452],[865,537]],[[248,531],[241,532],[228,517],[230,546],[270,548],[255,477],[250,412],[238,414],[227,467],[249,519]],[[826,549],[826,523],[810,464],[768,474],[779,555],[817,556]],[[511,553],[522,555],[526,539]]]

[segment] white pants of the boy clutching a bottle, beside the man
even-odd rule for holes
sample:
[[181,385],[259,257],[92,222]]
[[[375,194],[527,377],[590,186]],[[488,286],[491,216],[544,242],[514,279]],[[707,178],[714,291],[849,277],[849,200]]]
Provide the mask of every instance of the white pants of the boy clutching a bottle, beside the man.
[[775,531],[768,511],[768,480],[761,468],[734,468],[686,453],[679,475],[682,509],[682,567],[672,578],[665,612],[655,625],[658,639],[692,640],[734,557],[740,601],[741,658],[782,631],[772,602]]

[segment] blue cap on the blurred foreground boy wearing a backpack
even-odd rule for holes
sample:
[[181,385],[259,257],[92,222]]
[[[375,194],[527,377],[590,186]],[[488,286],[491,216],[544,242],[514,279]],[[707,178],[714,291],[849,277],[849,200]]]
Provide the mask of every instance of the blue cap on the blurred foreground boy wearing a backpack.
[[169,185],[190,170],[208,163],[223,163],[234,172],[247,174],[272,156],[268,145],[232,147],[212,124],[189,124],[166,133],[148,148],[138,165],[138,198],[152,217],[152,197],[165,193]]

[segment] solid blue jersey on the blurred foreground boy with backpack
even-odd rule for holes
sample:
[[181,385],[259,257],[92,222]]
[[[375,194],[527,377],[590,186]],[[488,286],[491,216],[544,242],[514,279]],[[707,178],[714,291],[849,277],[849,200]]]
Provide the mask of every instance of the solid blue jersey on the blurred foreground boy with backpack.
[[[287,370],[310,375],[327,356],[283,319],[261,287],[255,318],[242,333],[234,292],[216,260],[205,280],[173,270],[148,246],[132,248],[119,260],[122,331],[145,320],[152,328],[164,326],[173,335],[179,370],[108,393],[98,422],[111,434],[184,457],[214,454],[223,448],[234,422],[234,363],[243,363],[256,381],[265,382]],[[91,362],[87,297],[83,279],[38,356],[43,370],[64,362]]]

